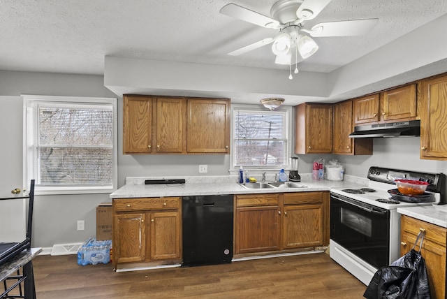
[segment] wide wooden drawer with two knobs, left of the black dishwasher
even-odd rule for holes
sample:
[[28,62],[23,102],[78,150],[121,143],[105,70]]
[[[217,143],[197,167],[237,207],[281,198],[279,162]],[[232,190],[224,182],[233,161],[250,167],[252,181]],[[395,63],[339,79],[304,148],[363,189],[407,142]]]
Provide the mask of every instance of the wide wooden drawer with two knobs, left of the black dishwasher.
[[168,210],[178,209],[181,200],[179,197],[162,198],[123,198],[113,200],[113,210],[120,212],[137,210]]

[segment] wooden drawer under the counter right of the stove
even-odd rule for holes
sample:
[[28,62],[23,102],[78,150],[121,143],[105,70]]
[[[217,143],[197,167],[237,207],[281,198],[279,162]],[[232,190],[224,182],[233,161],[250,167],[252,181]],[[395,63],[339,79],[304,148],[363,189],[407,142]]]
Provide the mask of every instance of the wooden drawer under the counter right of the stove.
[[446,247],[447,229],[441,226],[427,223],[413,217],[402,215],[402,231],[418,235],[420,229],[425,229],[425,240],[435,242]]

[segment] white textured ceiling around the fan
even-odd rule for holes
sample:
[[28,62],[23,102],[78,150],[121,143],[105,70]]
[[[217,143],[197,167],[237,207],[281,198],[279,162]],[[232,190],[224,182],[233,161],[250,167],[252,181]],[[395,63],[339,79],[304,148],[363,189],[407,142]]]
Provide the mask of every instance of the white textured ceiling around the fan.
[[[274,64],[268,46],[226,54],[277,34],[221,15],[230,1],[270,15],[275,0],[0,0],[0,69],[102,75],[105,55],[284,68]],[[334,71],[446,13],[444,0],[332,0],[306,27],[379,22],[362,37],[314,38],[318,52],[298,67]]]

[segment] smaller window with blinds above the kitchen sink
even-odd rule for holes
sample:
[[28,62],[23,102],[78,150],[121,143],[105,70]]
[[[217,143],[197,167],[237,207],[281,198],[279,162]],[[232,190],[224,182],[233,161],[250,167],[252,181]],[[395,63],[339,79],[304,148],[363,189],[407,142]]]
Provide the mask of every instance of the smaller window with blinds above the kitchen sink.
[[288,165],[290,109],[233,109],[233,169]]

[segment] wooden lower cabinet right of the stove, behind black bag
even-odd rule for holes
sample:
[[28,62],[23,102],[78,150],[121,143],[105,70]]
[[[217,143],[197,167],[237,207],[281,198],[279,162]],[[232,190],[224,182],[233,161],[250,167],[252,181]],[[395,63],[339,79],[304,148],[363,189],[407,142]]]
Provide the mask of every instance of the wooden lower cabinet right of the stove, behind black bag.
[[[447,228],[402,215],[400,254],[403,256],[410,251],[420,230],[425,231],[420,253],[425,259],[431,297],[445,299]],[[416,247],[416,250],[418,250],[418,247]]]

